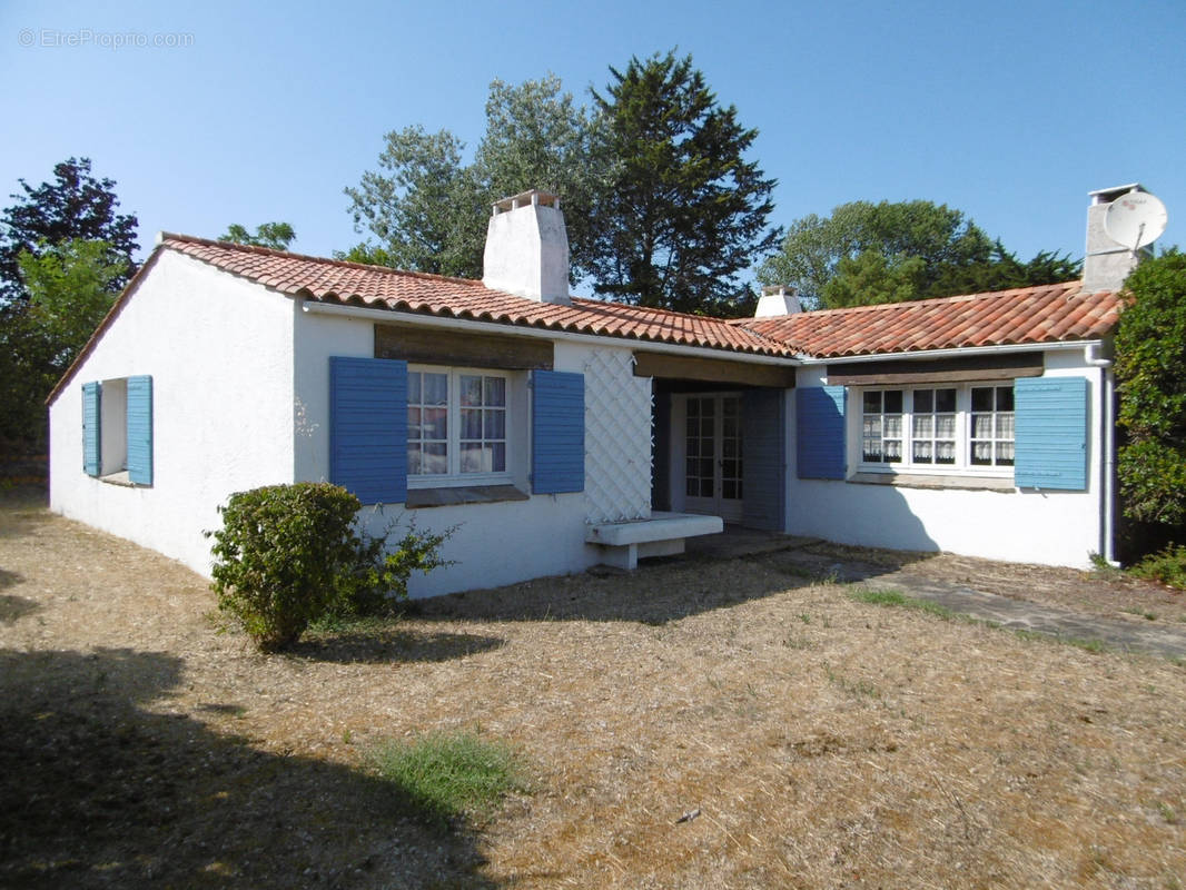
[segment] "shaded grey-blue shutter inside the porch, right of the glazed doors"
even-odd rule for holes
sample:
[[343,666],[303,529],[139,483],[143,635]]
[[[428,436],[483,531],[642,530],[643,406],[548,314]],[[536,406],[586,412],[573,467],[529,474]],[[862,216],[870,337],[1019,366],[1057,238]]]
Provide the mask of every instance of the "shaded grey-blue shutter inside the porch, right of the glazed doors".
[[782,532],[786,503],[786,428],[782,389],[751,389],[741,403],[744,520]]

